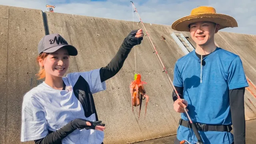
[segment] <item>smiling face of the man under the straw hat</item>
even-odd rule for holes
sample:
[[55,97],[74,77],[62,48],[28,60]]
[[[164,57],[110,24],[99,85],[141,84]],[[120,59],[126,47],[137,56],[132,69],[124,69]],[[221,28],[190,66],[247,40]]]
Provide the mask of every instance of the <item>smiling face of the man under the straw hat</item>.
[[[215,30],[216,27],[216,30]],[[199,46],[204,46],[209,44],[214,37],[214,33],[218,32],[219,25],[212,22],[195,22],[190,24],[190,35],[191,38]]]

